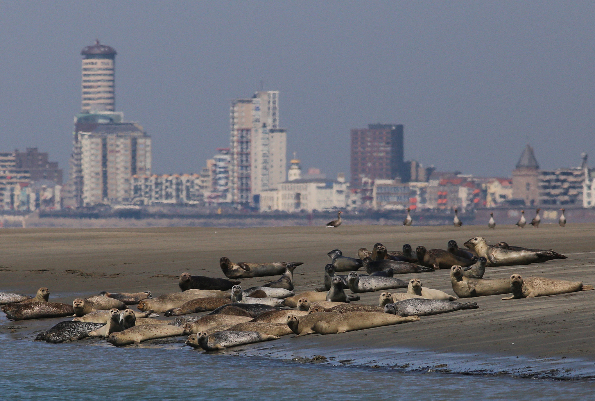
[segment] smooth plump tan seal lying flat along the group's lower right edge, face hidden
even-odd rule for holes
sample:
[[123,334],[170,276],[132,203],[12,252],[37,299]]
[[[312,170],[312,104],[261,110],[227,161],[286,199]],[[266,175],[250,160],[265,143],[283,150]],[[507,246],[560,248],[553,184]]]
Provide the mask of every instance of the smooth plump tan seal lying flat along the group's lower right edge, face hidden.
[[[315,315],[317,315],[317,313],[312,313],[310,316]],[[319,334],[337,334],[347,331],[363,330],[372,327],[416,322],[418,320],[418,316],[407,316],[403,318],[402,316],[376,312],[331,313],[331,315],[321,316],[320,319],[314,322],[312,325],[312,331]]]

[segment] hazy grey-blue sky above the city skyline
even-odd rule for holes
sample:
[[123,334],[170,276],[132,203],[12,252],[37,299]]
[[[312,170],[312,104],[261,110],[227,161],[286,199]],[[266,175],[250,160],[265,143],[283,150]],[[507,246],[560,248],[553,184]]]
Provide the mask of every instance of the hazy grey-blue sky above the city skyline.
[[595,165],[593,2],[14,1],[0,5],[0,151],[67,173],[81,49],[114,47],[116,108],[153,138],[153,172],[229,145],[229,105],[280,91],[287,151],[349,173],[349,130],[405,125],[405,157],[508,176]]

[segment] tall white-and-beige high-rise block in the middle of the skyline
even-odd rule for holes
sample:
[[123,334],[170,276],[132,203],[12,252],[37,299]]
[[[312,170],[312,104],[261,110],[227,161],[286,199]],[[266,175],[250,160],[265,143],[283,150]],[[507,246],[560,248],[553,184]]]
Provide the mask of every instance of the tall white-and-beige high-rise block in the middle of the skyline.
[[257,206],[261,191],[285,179],[287,132],[279,128],[278,95],[260,91],[231,101],[230,181],[237,205]]

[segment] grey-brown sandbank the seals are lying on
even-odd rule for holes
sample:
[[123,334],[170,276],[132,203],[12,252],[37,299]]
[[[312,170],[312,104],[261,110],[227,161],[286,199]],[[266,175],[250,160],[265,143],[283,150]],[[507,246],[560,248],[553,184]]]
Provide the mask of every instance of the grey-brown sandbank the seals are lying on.
[[[389,250],[399,250],[404,243],[414,249],[417,245],[429,249],[445,248],[447,241],[454,239],[462,247],[477,235],[492,244],[506,241],[528,248],[552,248],[568,256],[565,260],[535,265],[487,268],[484,278],[508,278],[518,272],[523,276],[595,285],[595,224],[569,224],[566,228],[541,225],[538,229],[498,226],[496,230],[484,226],[405,228],[345,224],[337,229],[2,229],[0,291],[33,295],[37,288],[48,287],[51,300],[67,303],[104,290],[151,290],[159,296],[179,291],[177,277],[182,272],[224,277],[218,260],[227,256],[242,262],[304,262],[295,272],[299,292],[321,285],[324,265],[328,263],[326,253],[334,248],[355,257],[358,248],[372,248],[377,242]],[[405,281],[412,276],[420,278],[425,287],[454,294],[449,271],[398,275]],[[242,286],[272,279],[275,278],[245,279]],[[380,291],[360,295],[359,303],[377,304]],[[595,359],[595,291],[509,301],[500,301],[501,297],[477,297],[472,301],[477,301],[479,309],[424,316],[419,322],[339,335],[285,336],[274,343],[292,347],[328,344],[361,349],[403,347],[439,353]],[[12,338],[33,337],[35,329],[49,328],[60,320],[7,322],[2,316],[2,331],[11,331]]]

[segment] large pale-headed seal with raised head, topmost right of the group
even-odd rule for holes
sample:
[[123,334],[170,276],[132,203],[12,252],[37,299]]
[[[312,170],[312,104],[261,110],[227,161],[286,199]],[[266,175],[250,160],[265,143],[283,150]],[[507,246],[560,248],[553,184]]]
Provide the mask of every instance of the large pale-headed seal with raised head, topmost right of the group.
[[509,251],[492,247],[486,243],[484,237],[471,238],[465,246],[474,249],[477,256],[485,257],[486,266],[529,265],[552,259],[566,259],[566,256],[554,251]]

